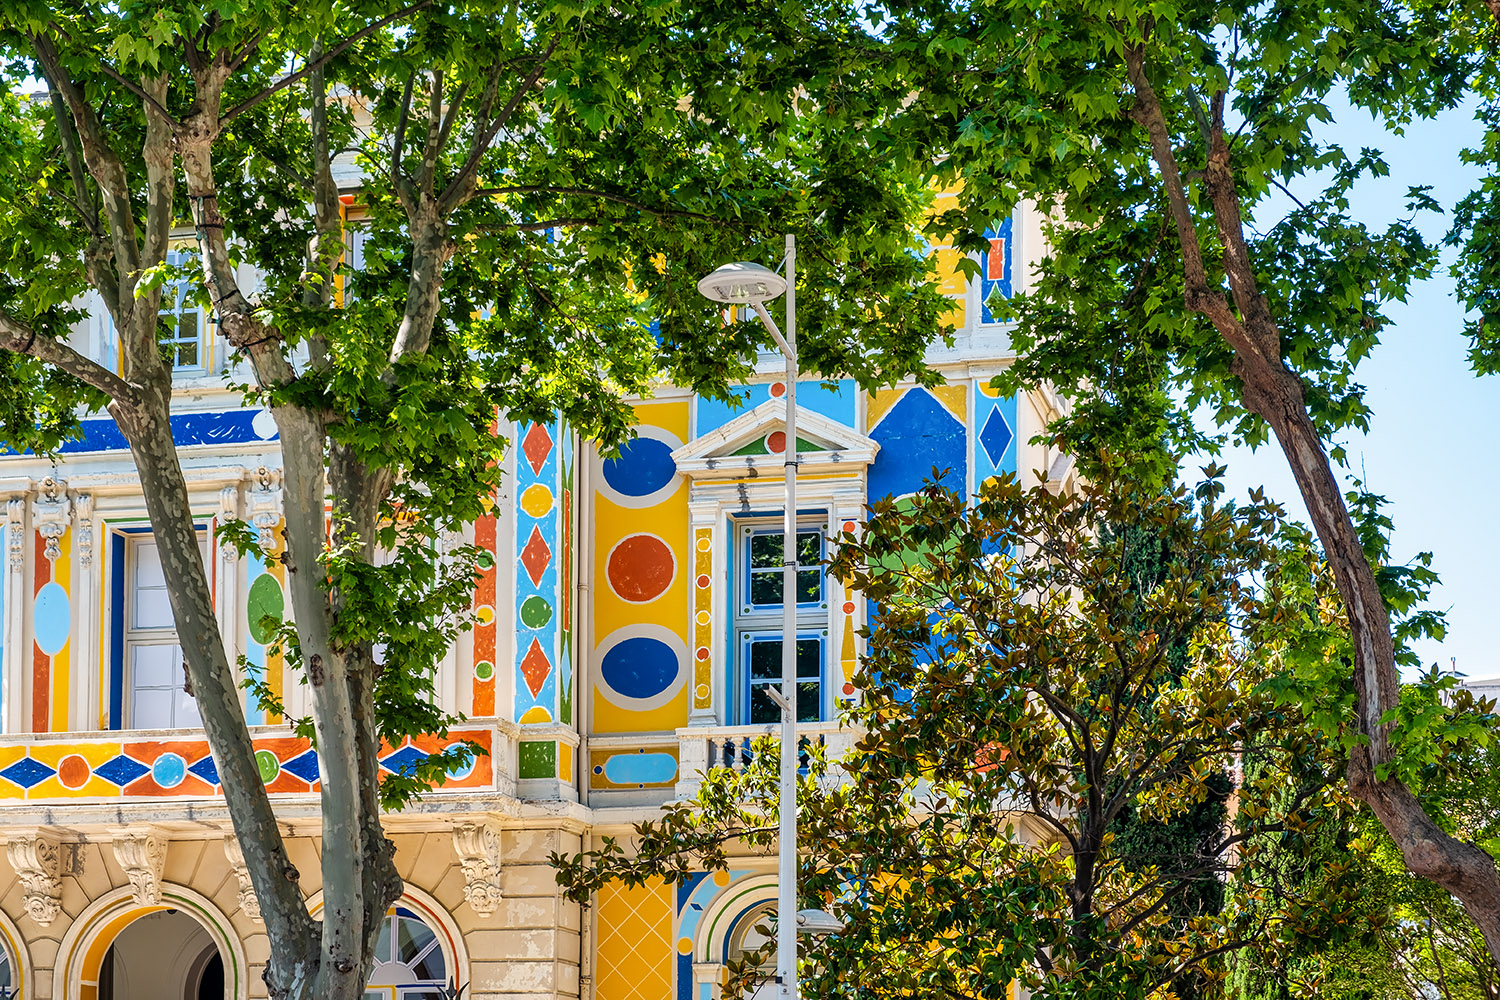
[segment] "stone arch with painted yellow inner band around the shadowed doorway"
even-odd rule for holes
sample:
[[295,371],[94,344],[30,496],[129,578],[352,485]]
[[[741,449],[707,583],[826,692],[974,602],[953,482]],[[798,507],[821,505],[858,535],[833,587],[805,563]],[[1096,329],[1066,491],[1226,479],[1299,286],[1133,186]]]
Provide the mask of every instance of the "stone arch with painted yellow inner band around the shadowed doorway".
[[99,969],[120,931],[147,913],[178,910],[196,921],[224,958],[225,996],[249,1000],[249,964],[244,945],[230,918],[206,895],[172,882],[162,883],[162,901],[141,906],[130,886],[104,894],[80,913],[63,934],[52,967],[52,1000],[96,1000]]

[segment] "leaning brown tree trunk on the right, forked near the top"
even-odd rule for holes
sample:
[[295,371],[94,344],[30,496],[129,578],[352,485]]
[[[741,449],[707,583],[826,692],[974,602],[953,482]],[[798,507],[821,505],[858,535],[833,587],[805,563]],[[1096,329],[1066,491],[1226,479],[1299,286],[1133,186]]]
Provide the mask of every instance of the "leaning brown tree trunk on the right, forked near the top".
[[1132,117],[1150,139],[1152,159],[1161,171],[1176,225],[1186,306],[1206,316],[1234,351],[1232,370],[1240,381],[1242,400],[1270,426],[1287,457],[1348,615],[1358,696],[1354,724],[1368,739],[1350,753],[1350,792],[1374,811],[1413,874],[1432,880],[1464,904],[1485,936],[1491,960],[1500,963],[1500,871],[1494,858],[1444,834],[1400,780],[1377,777],[1377,769],[1390,762],[1390,726],[1382,724],[1382,717],[1401,696],[1390,615],[1344,505],[1328,450],[1308,415],[1302,379],[1282,360],[1281,331],[1260,294],[1224,132],[1224,94],[1215,94],[1212,102],[1203,190],[1214,210],[1233,303],[1209,285],[1166,115],[1146,72],[1144,51],[1128,46],[1125,63],[1136,90]]

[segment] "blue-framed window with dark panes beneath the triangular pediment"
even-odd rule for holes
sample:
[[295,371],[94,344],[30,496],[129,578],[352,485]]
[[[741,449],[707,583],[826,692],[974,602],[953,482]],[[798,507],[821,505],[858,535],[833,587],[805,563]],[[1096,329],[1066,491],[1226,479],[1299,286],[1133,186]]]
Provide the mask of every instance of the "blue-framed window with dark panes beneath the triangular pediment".
[[[741,724],[774,724],[782,709],[766,694],[782,684],[784,529],[777,520],[736,523],[735,586],[736,717]],[[796,526],[796,720],[824,717],[828,595],[824,579],[824,523]]]

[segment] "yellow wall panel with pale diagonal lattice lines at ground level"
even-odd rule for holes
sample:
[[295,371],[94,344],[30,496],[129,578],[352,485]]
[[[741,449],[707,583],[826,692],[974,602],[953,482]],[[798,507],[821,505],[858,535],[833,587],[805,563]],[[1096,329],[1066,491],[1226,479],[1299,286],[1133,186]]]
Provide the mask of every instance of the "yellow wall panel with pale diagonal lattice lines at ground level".
[[598,891],[597,1000],[672,1000],[672,889]]

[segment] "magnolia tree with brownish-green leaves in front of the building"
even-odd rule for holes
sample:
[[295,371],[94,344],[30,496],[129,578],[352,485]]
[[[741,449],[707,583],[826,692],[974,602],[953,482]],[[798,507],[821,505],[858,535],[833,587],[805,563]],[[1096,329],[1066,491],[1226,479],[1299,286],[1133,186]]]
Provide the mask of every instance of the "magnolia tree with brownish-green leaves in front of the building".
[[[1269,684],[1336,604],[1281,534],[1212,483],[1194,501],[1106,477],[934,486],[842,535],[830,571],[874,613],[862,736],[804,750],[800,906],[844,922],[806,945],[808,996],[1206,994],[1244,948],[1336,933],[1358,883],[1316,852],[1352,805],[1340,747]],[[585,901],[774,852],[777,759],[766,738],[630,843],[555,856],[560,883]]]

